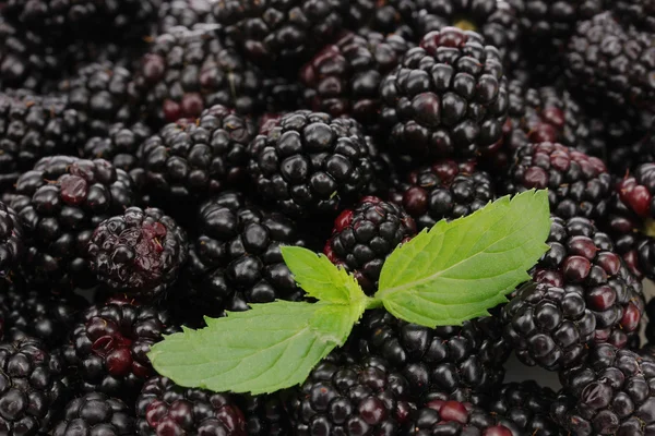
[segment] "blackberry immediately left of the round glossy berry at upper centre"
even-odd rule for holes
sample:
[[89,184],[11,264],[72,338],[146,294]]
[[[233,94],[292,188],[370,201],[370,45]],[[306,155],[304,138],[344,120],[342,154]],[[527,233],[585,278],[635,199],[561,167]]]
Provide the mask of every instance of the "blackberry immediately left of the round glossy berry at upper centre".
[[144,190],[163,207],[176,199],[205,199],[247,181],[254,123],[224,106],[196,120],[166,124],[138,150]]

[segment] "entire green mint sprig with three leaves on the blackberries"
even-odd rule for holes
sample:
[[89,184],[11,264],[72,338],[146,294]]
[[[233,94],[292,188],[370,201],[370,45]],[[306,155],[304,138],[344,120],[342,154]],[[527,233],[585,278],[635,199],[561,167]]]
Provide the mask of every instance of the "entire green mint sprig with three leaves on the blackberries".
[[367,308],[425,326],[458,325],[487,315],[529,279],[550,230],[546,191],[503,197],[477,213],[440,221],[386,259],[379,291],[306,249],[281,247],[298,284],[318,303],[276,301],[248,312],[206,318],[156,343],[155,370],[181,386],[214,391],[273,392],[302,383],[313,366],[343,346]]

